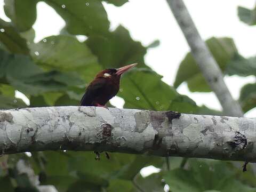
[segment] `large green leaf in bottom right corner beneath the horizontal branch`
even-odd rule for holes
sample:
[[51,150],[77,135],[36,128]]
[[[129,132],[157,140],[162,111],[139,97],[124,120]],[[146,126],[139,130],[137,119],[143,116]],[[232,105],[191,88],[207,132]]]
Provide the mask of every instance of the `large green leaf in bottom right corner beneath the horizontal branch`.
[[201,191],[256,191],[256,188],[243,185],[228,169],[228,163],[189,159],[189,170],[175,169],[166,172],[165,182],[173,192]]

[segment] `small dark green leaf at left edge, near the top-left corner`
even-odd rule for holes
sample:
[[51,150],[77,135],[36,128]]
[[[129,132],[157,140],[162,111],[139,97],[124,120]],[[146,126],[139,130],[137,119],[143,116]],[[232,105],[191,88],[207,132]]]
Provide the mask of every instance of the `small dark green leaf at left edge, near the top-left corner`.
[[26,39],[22,38],[10,22],[0,19],[0,42],[12,53],[29,54]]

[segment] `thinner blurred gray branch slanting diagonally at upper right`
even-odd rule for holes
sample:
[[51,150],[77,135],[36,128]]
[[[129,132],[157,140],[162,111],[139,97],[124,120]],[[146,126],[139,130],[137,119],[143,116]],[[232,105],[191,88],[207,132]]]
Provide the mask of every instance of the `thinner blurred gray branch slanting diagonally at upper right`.
[[169,4],[175,19],[177,20],[187,42],[191,53],[202,71],[207,83],[217,95],[223,111],[228,116],[243,116],[238,103],[231,97],[227,85],[217,62],[212,57],[209,49],[199,35],[190,14],[182,0],[166,0]]

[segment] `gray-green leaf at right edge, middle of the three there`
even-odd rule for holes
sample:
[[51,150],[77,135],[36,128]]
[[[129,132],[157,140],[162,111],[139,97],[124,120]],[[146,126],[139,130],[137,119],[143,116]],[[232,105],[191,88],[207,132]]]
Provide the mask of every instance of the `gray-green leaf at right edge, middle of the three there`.
[[228,63],[225,73],[243,77],[249,75],[256,76],[256,57],[245,59],[241,55],[236,55],[236,57]]

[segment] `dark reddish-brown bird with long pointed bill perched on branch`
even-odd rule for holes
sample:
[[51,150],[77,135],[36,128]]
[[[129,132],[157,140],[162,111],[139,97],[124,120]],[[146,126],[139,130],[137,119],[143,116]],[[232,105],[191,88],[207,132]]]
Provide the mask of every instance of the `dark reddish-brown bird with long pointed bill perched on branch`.
[[100,71],[87,86],[80,105],[105,107],[106,103],[117,94],[121,75],[136,65],[137,63],[134,63],[118,69]]

